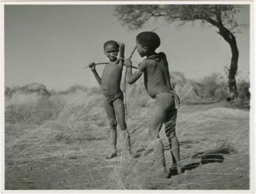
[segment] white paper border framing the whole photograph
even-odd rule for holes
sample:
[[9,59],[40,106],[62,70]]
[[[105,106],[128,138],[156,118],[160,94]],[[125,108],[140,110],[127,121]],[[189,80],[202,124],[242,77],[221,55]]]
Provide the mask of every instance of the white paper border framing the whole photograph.
[[[249,190],[5,190],[5,122],[4,122],[4,88],[5,88],[5,39],[4,39],[4,11],[5,5],[122,5],[122,4],[233,4],[233,5],[249,5],[250,6],[250,189]],[[256,146],[255,140],[255,122],[256,115],[254,112],[255,102],[255,74],[256,68],[254,68],[255,53],[254,53],[254,13],[256,8],[253,1],[23,1],[23,0],[7,0],[0,1],[0,86],[1,86],[1,192],[2,193],[255,193],[255,161],[256,155],[254,146]]]

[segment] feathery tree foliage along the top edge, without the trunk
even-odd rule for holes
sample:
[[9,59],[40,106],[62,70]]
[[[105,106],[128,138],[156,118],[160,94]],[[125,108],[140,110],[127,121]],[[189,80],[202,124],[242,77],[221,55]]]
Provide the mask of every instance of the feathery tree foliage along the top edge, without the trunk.
[[240,32],[245,24],[239,24],[236,13],[239,5],[118,5],[115,16],[123,26],[130,30],[137,30],[144,26],[151,17],[163,17],[168,22],[194,22],[200,20],[202,24],[211,23],[216,27],[225,26],[232,32]]

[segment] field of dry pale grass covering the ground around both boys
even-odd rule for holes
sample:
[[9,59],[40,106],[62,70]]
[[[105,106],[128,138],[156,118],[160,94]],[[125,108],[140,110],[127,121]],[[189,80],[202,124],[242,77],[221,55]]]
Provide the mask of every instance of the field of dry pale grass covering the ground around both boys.
[[[136,161],[105,159],[108,120],[99,88],[6,96],[5,189],[249,189],[249,110],[214,99],[188,103],[193,92],[183,88],[177,87],[183,103],[176,131],[185,172],[170,179],[151,176],[147,131],[154,101],[142,84],[130,88],[127,102]],[[164,130],[160,136],[170,167]]]

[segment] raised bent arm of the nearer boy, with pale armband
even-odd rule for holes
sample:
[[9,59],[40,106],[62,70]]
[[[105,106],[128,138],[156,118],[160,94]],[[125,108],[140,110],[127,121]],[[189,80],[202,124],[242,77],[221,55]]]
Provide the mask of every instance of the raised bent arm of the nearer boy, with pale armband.
[[133,72],[132,72],[132,61],[130,59],[126,59],[125,62],[124,62],[124,65],[127,68],[126,78],[127,78],[127,82],[129,84],[133,84],[134,82],[136,82],[140,78],[140,76],[143,74],[143,71],[146,68],[146,63],[142,62],[140,64],[139,68],[136,69],[134,74],[133,74]]

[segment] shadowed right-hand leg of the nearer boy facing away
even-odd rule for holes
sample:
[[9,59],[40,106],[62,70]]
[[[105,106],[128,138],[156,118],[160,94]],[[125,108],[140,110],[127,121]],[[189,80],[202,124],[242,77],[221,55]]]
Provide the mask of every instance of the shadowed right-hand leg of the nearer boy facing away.
[[165,125],[165,134],[169,140],[170,154],[173,159],[173,166],[171,167],[177,169],[178,175],[182,173],[182,168],[180,165],[180,145],[178,138],[176,136],[176,119],[177,119],[177,109],[168,110],[164,125]]

